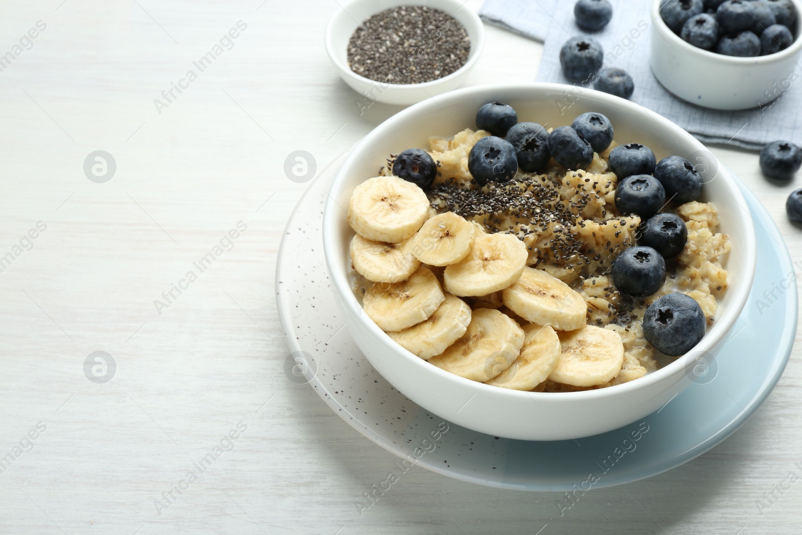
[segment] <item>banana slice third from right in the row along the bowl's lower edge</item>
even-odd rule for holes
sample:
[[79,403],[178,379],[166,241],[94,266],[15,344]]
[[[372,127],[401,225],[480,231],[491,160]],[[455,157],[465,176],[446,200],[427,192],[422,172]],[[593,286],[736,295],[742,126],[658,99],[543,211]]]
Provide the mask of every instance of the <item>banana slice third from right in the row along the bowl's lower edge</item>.
[[471,314],[463,336],[443,355],[429,359],[436,367],[484,383],[515,362],[524,345],[524,330],[498,310],[480,308]]

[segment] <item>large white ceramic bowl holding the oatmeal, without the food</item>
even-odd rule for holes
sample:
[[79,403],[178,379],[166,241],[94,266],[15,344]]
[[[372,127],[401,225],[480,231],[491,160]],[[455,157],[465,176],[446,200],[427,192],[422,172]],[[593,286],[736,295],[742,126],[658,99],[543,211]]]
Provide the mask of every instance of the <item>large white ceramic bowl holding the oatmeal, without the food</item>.
[[[555,102],[565,99],[565,85],[522,83],[468,87],[400,111],[360,142],[331,186],[323,214],[323,246],[331,286],[360,350],[394,387],[421,407],[466,428],[494,436],[523,440],[564,440],[607,432],[657,411],[691,383],[698,355],[717,355],[735,323],[755,273],[755,233],[752,219],[735,180],[723,167],[703,189],[703,201],[715,201],[721,230],[729,234],[732,252],[725,263],[730,286],[719,302],[715,324],[685,357],[645,377],[615,387],[568,393],[512,391],[452,375],[412,355],[383,333],[363,312],[351,290],[348,245],[354,232],[346,209],[354,187],[375,176],[387,155],[406,148],[428,148],[429,136],[452,136],[476,128],[476,110],[500,101],[515,107],[520,120],[549,127],[571,124],[585,111],[610,118],[618,144],[638,142],[652,148],[658,160],[678,154],[696,160],[711,157],[704,145],[676,124],[638,104],[585,90],[560,115]],[[715,165],[715,161],[708,162]],[[708,177],[710,175],[707,175]],[[718,355],[726,359],[727,355]],[[723,364],[722,364],[723,365]],[[370,409],[367,409],[370,410]]]

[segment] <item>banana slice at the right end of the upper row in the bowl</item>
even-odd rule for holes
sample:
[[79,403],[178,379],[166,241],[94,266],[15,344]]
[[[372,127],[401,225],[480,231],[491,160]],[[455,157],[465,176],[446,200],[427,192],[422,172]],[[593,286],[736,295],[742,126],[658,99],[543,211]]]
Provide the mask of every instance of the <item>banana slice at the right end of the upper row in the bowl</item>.
[[[448,286],[448,277],[446,282]],[[585,325],[585,299],[544,270],[525,268],[518,281],[501,292],[501,301],[537,325],[549,325],[555,330],[575,330]]]

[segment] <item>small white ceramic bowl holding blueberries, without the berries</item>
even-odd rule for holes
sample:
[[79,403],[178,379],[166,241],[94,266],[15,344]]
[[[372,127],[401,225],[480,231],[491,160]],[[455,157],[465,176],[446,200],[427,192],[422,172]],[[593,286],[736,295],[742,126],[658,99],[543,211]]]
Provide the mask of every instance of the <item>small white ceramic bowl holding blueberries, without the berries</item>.
[[[764,107],[788,91],[802,51],[802,0],[792,0],[796,12],[796,40],[784,51],[753,58],[716,54],[686,43],[660,17],[665,0],[652,6],[651,68],[668,91],[680,99],[716,110]],[[802,66],[800,66],[802,67]]]

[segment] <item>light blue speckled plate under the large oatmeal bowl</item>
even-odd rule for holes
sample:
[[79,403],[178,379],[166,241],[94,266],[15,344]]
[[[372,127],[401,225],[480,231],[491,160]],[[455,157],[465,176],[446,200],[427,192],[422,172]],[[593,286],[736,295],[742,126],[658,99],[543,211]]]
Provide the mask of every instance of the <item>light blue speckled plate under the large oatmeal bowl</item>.
[[[285,371],[296,383],[310,383],[367,438],[411,463],[456,479],[518,490],[630,483],[686,463],[726,439],[764,402],[783,373],[796,334],[797,297],[795,284],[782,294],[776,287],[793,273],[793,266],[772,218],[742,185],[755,220],[755,283],[743,313],[699,382],[642,422],[578,440],[499,439],[442,423],[391,387],[342,328],[326,288],[320,236],[322,205],[338,163],[342,159],[310,185],[279,250],[278,310],[292,351]],[[776,298],[768,302],[764,292],[772,290]],[[758,300],[768,307],[758,306]],[[755,332],[778,334],[758,338]],[[301,355],[310,361],[306,376],[292,373],[292,365],[301,362],[294,359]]]

